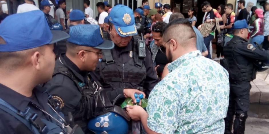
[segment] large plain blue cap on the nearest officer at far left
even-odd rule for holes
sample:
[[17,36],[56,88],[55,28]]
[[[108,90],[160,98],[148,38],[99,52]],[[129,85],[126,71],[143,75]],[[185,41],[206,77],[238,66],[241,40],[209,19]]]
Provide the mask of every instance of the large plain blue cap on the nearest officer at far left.
[[[20,21],[18,21],[20,20]],[[40,10],[13,14],[0,24],[0,52],[15,52],[54,44],[70,37],[64,31],[50,31],[47,19]]]

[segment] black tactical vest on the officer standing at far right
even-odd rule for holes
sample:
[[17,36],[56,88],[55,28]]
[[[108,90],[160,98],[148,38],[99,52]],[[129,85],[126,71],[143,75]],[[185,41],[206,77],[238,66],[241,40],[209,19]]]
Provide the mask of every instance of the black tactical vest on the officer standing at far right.
[[256,70],[254,69],[253,64],[249,64],[248,66],[240,65],[235,60],[234,57],[234,47],[243,41],[242,40],[231,40],[227,43],[227,46],[223,48],[223,52],[225,53],[225,60],[227,60],[229,72],[230,82],[250,82],[256,79]]

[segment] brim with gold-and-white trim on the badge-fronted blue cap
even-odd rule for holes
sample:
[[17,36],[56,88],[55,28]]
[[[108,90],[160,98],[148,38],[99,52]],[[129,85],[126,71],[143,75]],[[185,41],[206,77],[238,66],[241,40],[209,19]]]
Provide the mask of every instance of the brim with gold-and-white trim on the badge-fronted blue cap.
[[137,35],[137,28],[135,26],[135,23],[127,27],[118,27],[116,25],[114,26],[117,33],[122,37]]

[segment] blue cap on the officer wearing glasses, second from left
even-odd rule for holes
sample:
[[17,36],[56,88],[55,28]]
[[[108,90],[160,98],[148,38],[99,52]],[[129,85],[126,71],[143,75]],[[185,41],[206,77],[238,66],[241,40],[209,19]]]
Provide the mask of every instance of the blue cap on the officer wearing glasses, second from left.
[[112,49],[114,43],[104,40],[102,30],[99,25],[79,24],[70,27],[70,38],[68,42],[80,46],[89,46],[97,49]]

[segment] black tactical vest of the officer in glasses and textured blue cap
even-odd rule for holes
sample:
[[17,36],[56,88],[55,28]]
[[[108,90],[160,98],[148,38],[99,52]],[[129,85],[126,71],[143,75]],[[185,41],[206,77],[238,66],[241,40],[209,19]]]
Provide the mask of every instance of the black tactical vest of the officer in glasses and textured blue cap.
[[[61,64],[56,64],[53,76],[56,74],[63,74],[69,77],[76,84],[82,95],[79,112],[73,115],[74,124],[78,124],[85,131],[89,119],[105,114],[109,111],[116,112],[122,115],[126,120],[130,120],[130,117],[123,109],[119,109],[119,107],[116,107],[111,103],[106,96],[106,92],[102,89],[102,86],[98,81],[94,81],[94,83],[90,82],[90,80],[88,80],[87,83],[81,82],[80,79],[77,78],[62,61],[63,58],[59,57],[59,61],[57,62],[61,62]],[[115,101],[119,96],[120,95],[116,97]]]

